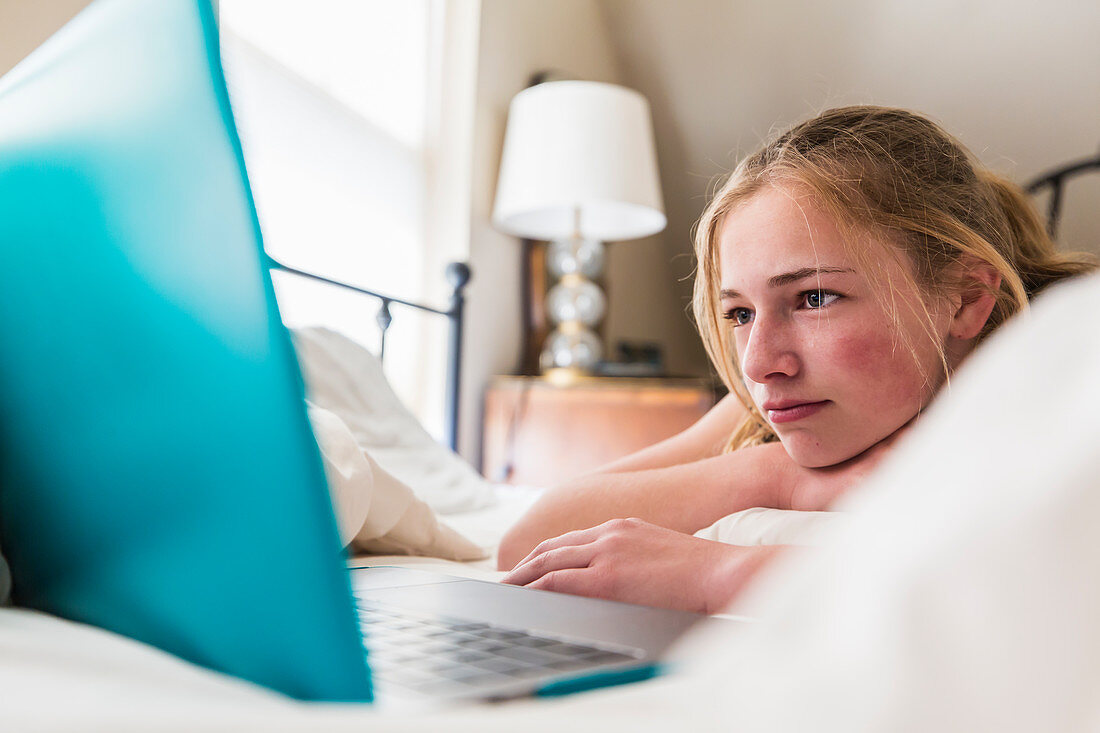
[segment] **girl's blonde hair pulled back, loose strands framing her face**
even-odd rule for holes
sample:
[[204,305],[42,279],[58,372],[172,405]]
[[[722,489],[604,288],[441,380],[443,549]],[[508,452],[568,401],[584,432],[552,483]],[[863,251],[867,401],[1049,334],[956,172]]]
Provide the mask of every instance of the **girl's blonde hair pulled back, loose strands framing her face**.
[[[745,386],[719,297],[722,223],[768,186],[807,192],[840,227],[866,271],[881,264],[883,254],[908,260],[910,266],[902,270],[915,273],[908,284],[927,297],[957,292],[959,267],[954,265],[991,266],[1001,282],[979,339],[1052,283],[1096,267],[1091,255],[1057,252],[1018,186],[976,165],[958,141],[919,114],[843,107],[802,122],[738,164],[695,230],[695,322],[718,375],[748,411],[727,450],[776,439]],[[884,291],[892,288],[889,283]],[[897,320],[892,292],[879,296]]]

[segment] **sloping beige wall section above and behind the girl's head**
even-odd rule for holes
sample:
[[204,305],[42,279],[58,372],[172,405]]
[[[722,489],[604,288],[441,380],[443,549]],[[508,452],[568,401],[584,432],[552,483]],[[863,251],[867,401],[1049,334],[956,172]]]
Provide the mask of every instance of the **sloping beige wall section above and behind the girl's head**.
[[[1021,182],[1100,149],[1097,2],[594,1],[623,81],[653,106],[676,275],[715,177],[820,109],[923,111]],[[1100,175],[1074,184],[1067,215],[1063,245],[1100,252]]]

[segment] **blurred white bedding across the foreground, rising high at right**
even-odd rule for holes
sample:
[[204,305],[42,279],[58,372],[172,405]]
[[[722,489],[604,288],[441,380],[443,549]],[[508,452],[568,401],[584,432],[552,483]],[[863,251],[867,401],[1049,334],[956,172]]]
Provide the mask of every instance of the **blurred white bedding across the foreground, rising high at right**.
[[[676,674],[557,700],[383,715],[294,704],[154,649],[0,610],[4,730],[1100,730],[1100,277],[966,364],[849,525],[771,568]],[[30,617],[29,617],[30,616]]]

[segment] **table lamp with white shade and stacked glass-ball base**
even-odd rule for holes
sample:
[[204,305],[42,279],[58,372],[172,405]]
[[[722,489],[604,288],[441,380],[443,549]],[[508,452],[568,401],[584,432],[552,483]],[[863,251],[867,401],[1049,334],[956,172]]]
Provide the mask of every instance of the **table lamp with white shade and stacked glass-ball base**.
[[556,328],[544,374],[590,373],[602,357],[595,328],[607,300],[594,282],[605,241],[664,229],[649,103],[632,89],[596,81],[547,81],[512,100],[493,208],[494,226],[546,240],[547,294]]

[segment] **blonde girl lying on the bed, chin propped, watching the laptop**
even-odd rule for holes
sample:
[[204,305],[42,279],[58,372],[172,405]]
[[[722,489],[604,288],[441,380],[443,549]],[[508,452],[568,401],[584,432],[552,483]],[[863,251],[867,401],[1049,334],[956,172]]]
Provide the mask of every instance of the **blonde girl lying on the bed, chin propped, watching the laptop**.
[[781,546],[691,533],[827,508],[986,336],[1093,266],[937,125],[879,107],[826,111],[743,161],[695,252],[695,318],[729,396],[549,492],[501,546],[507,582],[717,611]]

